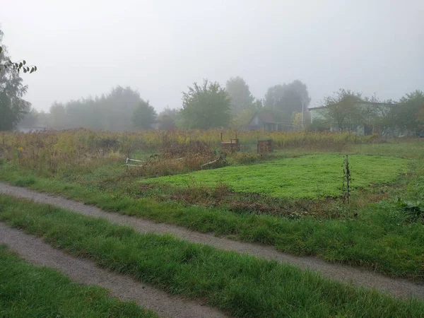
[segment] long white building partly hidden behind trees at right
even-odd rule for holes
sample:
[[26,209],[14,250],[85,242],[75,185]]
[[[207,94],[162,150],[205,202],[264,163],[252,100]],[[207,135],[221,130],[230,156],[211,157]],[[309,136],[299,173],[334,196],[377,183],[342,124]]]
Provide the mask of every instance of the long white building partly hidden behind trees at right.
[[[374,117],[384,117],[384,115],[388,114],[393,107],[396,107],[396,104],[391,104],[387,102],[361,101],[361,102],[356,102],[355,107],[358,107],[361,110],[369,111],[369,113],[372,114],[372,116]],[[314,120],[325,119],[326,117],[325,116],[325,112],[327,110],[326,106],[312,107],[312,108],[308,108],[308,110],[310,111],[310,114],[311,114],[312,123],[314,122]],[[346,126],[346,129],[347,128],[348,127]],[[366,123],[364,119],[363,123],[355,124],[355,129],[353,130],[353,132],[359,135],[369,135],[369,134],[374,134],[377,132],[381,133],[379,129],[381,129],[381,127],[377,127],[377,126],[374,126],[373,124]],[[336,123],[330,124],[330,130],[331,131],[339,130]]]

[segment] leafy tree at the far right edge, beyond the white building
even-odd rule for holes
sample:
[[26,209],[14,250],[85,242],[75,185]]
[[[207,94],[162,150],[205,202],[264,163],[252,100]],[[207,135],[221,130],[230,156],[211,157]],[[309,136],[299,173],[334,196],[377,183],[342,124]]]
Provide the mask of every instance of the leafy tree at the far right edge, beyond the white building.
[[421,90],[406,94],[394,110],[395,124],[401,131],[418,134],[424,130],[424,93]]

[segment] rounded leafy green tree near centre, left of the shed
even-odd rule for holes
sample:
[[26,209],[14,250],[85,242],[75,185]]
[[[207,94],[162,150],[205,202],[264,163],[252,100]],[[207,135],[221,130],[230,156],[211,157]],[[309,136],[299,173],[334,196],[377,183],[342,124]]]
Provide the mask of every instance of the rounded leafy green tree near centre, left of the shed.
[[182,119],[189,129],[210,129],[230,124],[230,97],[219,83],[204,80],[182,93]]

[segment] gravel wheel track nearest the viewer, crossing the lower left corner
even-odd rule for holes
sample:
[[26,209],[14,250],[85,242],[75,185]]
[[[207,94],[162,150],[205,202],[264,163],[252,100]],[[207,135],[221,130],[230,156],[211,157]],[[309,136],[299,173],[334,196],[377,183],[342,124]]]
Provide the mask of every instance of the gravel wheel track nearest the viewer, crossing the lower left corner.
[[128,276],[100,269],[93,261],[70,257],[40,238],[8,228],[4,223],[0,223],[0,242],[6,243],[33,264],[57,269],[78,283],[100,285],[110,290],[114,297],[135,300],[138,305],[154,310],[160,317],[227,317],[217,309],[194,300],[168,295]]

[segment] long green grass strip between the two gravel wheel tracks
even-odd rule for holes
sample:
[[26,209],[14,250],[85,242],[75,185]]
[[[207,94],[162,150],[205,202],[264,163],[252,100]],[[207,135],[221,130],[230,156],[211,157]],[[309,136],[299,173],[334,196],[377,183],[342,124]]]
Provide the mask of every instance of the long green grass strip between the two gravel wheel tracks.
[[322,278],[295,266],[140,234],[106,220],[0,196],[0,219],[54,247],[235,317],[420,317],[424,302]]

